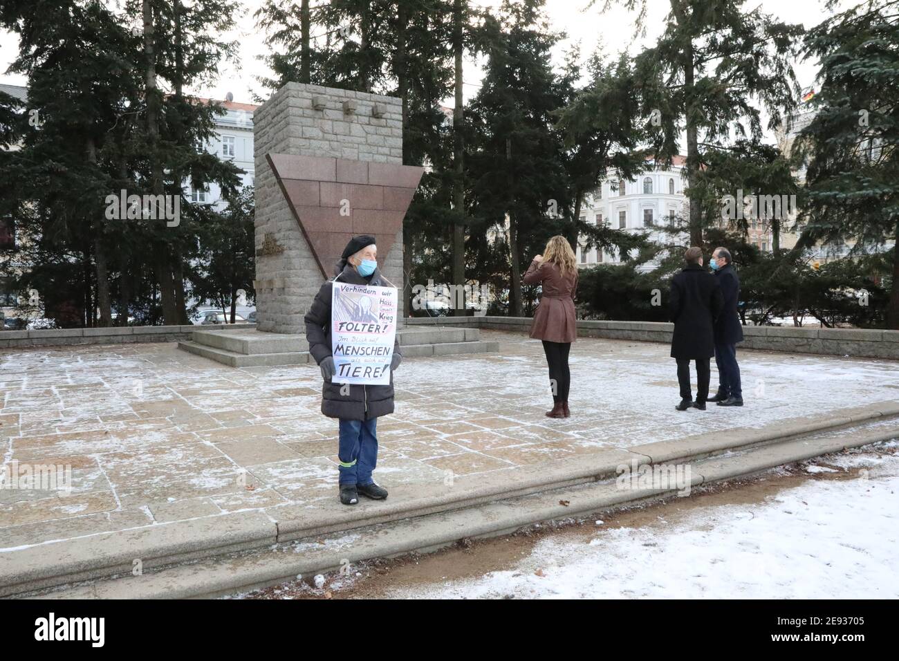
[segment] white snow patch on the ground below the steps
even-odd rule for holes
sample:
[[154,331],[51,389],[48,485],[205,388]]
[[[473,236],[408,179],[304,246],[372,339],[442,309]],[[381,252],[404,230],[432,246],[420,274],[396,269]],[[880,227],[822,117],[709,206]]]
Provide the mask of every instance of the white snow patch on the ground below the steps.
[[[540,540],[506,571],[405,598],[896,598],[899,443],[837,455],[851,479],[809,479],[759,504],[702,506],[677,523]],[[883,454],[886,453],[886,454]]]

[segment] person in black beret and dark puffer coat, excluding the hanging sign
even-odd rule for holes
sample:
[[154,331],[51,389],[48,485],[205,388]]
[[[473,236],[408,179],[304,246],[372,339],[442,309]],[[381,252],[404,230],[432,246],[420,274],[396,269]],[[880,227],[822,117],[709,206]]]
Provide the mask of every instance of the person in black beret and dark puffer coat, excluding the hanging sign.
[[[334,281],[390,287],[378,271],[378,246],[374,237],[353,237],[343,249],[341,261],[334,269]],[[322,371],[322,413],[338,418],[337,458],[340,460],[340,501],[356,505],[359,495],[382,500],[387,489],[375,484],[371,477],[378,463],[378,417],[394,411],[393,371],[403,356],[399,353],[399,336],[394,341],[390,362],[390,383],[387,385],[359,385],[334,383],[336,373],[331,352],[331,308],[333,281],[325,281],[316,299],[303,317],[309,354]]]

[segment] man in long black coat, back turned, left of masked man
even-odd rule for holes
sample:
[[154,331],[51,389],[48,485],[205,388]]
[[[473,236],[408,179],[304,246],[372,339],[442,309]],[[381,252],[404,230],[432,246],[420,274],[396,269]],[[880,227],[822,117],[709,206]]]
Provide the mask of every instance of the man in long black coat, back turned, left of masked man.
[[[702,249],[688,248],[683,258],[687,265],[672,278],[669,298],[674,322],[672,358],[677,360],[677,380],[681,385],[681,403],[675,408],[686,411],[693,406],[705,410],[709,361],[715,355],[713,326],[724,300],[714,276],[702,268]],[[696,402],[690,392],[691,360],[696,361]]]

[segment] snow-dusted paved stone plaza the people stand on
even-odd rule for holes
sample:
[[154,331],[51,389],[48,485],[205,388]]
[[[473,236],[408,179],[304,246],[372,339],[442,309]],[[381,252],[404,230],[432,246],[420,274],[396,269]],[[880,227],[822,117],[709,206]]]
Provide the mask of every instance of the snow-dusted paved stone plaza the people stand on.
[[[402,498],[610,449],[823,415],[899,398],[895,362],[743,352],[746,406],[674,411],[664,344],[579,339],[572,417],[548,419],[539,341],[482,331],[500,352],[415,358],[378,421],[375,478]],[[4,464],[70,466],[72,490],[0,489],[0,550],[256,511],[338,510],[336,421],[314,364],[234,369],[175,344],[0,353]],[[713,371],[713,390],[716,373]],[[370,501],[360,508],[383,506]]]

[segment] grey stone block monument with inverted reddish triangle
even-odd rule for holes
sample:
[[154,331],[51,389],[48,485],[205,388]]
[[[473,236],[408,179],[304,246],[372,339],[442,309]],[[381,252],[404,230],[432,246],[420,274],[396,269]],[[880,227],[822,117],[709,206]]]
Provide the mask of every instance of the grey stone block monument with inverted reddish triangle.
[[353,235],[377,238],[381,272],[402,289],[402,220],[423,168],[402,165],[401,112],[393,97],[289,83],[254,113],[259,331],[305,332]]

